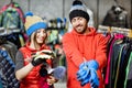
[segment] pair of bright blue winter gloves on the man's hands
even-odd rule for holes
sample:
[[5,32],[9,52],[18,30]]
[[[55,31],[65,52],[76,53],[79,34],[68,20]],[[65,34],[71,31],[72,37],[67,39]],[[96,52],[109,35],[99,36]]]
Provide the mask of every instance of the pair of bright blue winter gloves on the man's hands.
[[90,82],[92,88],[97,88],[99,86],[97,69],[98,63],[96,61],[81,63],[77,72],[77,79],[80,81],[80,85],[85,86]]

